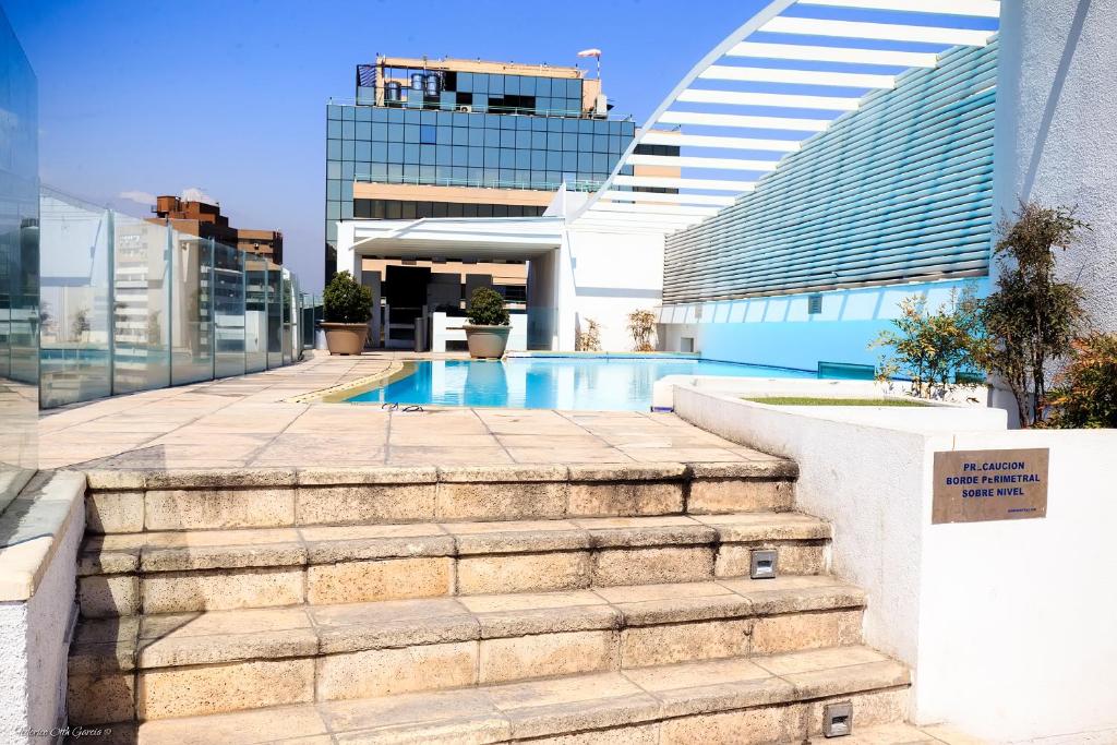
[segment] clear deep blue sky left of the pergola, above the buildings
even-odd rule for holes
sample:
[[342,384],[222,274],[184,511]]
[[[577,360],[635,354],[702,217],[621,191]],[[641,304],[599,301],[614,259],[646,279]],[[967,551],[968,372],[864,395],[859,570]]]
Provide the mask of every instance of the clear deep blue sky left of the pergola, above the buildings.
[[143,213],[125,192],[197,188],[238,227],[279,229],[322,283],[325,103],[376,52],[583,65],[648,115],[763,0],[427,3],[4,0],[39,77],[42,180]]

